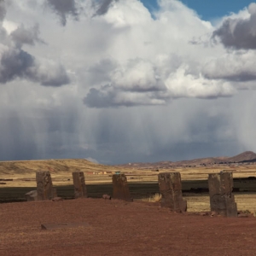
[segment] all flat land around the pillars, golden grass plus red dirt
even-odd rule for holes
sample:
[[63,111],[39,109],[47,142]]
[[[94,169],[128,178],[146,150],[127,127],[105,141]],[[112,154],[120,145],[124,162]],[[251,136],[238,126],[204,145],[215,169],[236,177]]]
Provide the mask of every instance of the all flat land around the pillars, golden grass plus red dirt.
[[[238,210],[255,215],[254,164],[136,169],[86,160],[1,162],[0,255],[253,255],[253,214],[205,214],[210,210],[207,175],[223,170],[234,174]],[[57,194],[69,200],[26,202],[37,171],[49,171]],[[85,174],[87,199],[73,199],[75,171]],[[111,195],[115,172],[126,174],[133,202],[101,198]],[[159,193],[160,172],[181,173],[188,212],[147,201]],[[42,224],[59,228],[43,230]]]

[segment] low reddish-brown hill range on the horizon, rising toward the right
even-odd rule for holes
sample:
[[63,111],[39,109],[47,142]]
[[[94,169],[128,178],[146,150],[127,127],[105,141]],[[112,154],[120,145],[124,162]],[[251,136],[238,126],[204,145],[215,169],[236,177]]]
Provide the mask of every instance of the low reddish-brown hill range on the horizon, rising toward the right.
[[138,168],[138,169],[157,169],[157,168],[172,168],[175,166],[200,166],[200,165],[214,165],[222,163],[242,163],[242,162],[255,162],[256,154],[252,151],[246,151],[241,154],[237,154],[233,157],[219,156],[219,157],[207,157],[195,160],[182,160],[177,162],[162,161],[155,163],[129,163],[125,165],[119,165],[123,168]]

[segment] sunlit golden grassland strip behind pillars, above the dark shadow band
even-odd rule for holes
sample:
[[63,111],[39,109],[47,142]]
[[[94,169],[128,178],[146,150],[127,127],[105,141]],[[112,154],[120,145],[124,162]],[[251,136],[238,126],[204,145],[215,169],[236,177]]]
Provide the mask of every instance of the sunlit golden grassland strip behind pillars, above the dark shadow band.
[[[214,165],[185,167],[177,166],[172,169],[160,169],[160,172],[180,172],[182,180],[207,179],[209,173],[220,171],[233,172],[233,177],[256,177],[256,165]],[[84,172],[86,183],[111,183],[115,172],[124,172],[128,181],[157,182],[158,174],[152,169],[119,168],[117,166],[104,166],[88,160],[24,160],[0,162],[0,178],[13,179],[0,187],[31,187],[35,184],[37,171],[49,171],[55,185],[72,184],[72,172]]]

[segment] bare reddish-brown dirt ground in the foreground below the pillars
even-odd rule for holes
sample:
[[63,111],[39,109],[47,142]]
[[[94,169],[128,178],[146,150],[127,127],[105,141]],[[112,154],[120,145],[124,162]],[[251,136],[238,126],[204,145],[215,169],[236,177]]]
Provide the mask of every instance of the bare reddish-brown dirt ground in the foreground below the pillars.
[[[42,230],[41,224],[89,227]],[[102,199],[0,205],[0,255],[255,255],[256,218]]]

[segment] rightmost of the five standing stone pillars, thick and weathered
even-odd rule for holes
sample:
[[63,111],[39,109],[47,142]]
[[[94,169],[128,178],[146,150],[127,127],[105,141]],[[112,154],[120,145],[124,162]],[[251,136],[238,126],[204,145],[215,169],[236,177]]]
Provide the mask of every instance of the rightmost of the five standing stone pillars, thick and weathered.
[[226,217],[237,217],[237,207],[233,190],[233,173],[209,174],[208,186],[211,211]]

